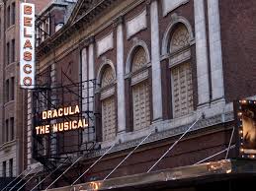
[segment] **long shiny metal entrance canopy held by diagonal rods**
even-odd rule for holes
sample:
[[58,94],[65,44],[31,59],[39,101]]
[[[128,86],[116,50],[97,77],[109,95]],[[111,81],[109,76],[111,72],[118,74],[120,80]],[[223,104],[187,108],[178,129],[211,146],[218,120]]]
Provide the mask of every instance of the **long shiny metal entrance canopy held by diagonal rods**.
[[[256,163],[254,160],[223,159],[196,165],[175,167],[171,169],[141,173],[101,181],[88,182],[62,188],[51,189],[51,191],[69,190],[129,190],[129,188],[140,190],[140,188],[168,184],[181,186],[193,185],[198,181],[214,182],[233,179],[244,176],[256,175]],[[131,190],[132,190],[131,189]]]

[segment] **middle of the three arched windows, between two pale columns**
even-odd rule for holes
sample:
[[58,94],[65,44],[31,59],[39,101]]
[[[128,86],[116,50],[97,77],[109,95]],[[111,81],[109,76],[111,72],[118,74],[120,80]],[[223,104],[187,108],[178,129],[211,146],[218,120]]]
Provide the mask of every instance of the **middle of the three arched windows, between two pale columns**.
[[131,74],[133,130],[136,131],[150,125],[147,59],[142,46],[138,46],[133,51]]

